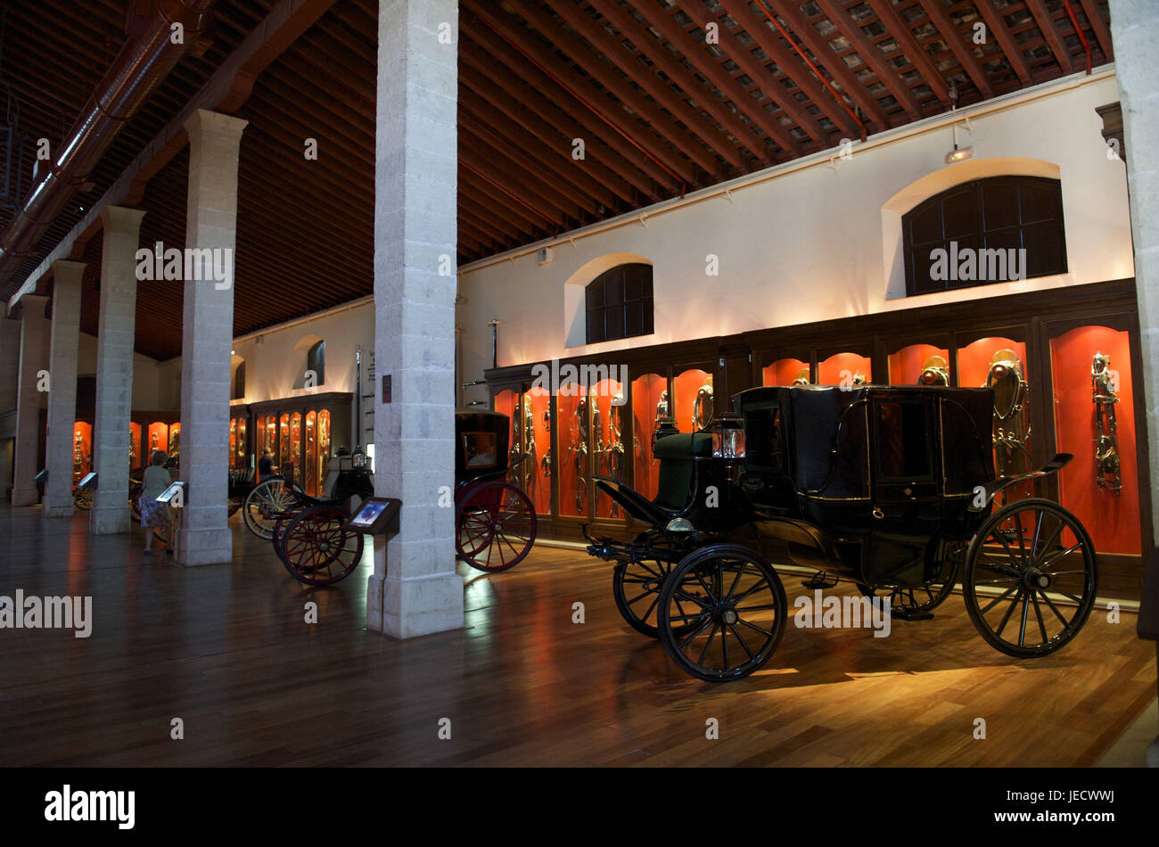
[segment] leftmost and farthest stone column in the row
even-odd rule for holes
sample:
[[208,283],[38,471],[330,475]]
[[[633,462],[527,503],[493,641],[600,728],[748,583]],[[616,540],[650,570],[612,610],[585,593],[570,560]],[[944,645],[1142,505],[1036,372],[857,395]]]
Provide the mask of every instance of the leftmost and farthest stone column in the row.
[[48,371],[49,322],[44,307],[49,298],[24,294],[20,298],[20,380],[16,388],[16,461],[12,480],[12,504],[34,506],[39,494],[34,482],[41,468],[41,403],[44,400],[44,373]]

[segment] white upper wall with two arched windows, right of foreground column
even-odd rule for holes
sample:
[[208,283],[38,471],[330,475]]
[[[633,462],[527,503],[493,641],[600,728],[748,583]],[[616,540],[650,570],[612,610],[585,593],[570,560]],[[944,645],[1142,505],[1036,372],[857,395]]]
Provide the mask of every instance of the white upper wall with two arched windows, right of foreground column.
[[[767,171],[779,176],[738,188],[731,199],[720,195],[672,211],[663,211],[662,204],[643,210],[654,213],[646,224],[632,221],[577,238],[574,246],[564,240],[547,265],[540,266],[534,254],[468,265],[459,280],[462,379],[479,378],[490,366],[488,321],[496,316],[502,321],[503,366],[1134,276],[1124,166],[1107,158],[1095,112],[1095,107],[1118,98],[1113,72],[1070,78],[1037,92],[1049,93],[1008,108],[991,103],[991,111],[982,115],[975,108],[958,112],[974,115],[972,132],[958,130],[958,144],[974,146],[974,162],[947,168],[945,156],[953,146],[948,125],[924,132],[902,127],[870,137],[865,148],[854,144],[848,161],[780,166]],[[931,123],[938,119],[923,126]],[[872,146],[891,136],[901,137]],[[898,270],[891,242],[901,238],[899,224],[892,226],[890,216],[899,213],[901,199],[912,199],[896,196],[941,170],[946,173],[931,185],[977,178],[987,167],[979,161],[1004,158],[1040,162],[1027,173],[1037,173],[1042,163],[1057,167],[1069,273],[887,299],[890,276]],[[568,346],[569,331],[576,339],[570,313],[582,304],[581,297],[567,295],[568,280],[569,291],[589,282],[598,270],[586,271],[615,253],[654,264],[656,334]],[[706,276],[708,254],[719,256],[719,277]],[[585,273],[577,273],[585,264]],[[483,392],[471,389],[467,399],[481,399]]]

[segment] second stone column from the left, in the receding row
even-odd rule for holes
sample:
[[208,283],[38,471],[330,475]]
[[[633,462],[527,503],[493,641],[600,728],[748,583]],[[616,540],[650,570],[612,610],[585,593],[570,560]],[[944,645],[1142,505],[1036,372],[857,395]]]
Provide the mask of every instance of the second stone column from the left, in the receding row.
[[49,425],[44,438],[44,516],[73,513],[73,424],[76,421],[76,351],[83,262],[52,263],[52,342],[49,346]]

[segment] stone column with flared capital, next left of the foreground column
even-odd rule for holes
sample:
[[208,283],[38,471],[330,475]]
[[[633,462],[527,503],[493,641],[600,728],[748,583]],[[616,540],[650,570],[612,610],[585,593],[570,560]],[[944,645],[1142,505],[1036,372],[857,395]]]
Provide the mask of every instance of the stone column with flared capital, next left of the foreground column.
[[[229,365],[238,151],[246,121],[201,109],[189,133],[185,247],[203,253],[185,279],[181,344],[181,479],[188,483],[177,545],[181,564],[233,558],[229,496]],[[212,251],[212,256],[209,251]],[[220,277],[220,278],[219,278]]]

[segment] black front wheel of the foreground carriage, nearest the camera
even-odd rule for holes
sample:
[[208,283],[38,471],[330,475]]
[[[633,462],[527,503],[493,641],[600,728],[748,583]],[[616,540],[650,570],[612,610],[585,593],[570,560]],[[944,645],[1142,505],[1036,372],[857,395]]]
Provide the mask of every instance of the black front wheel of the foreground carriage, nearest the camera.
[[672,568],[659,594],[659,641],[708,682],[746,677],[773,655],[788,618],[777,571],[741,545],[712,545]]

